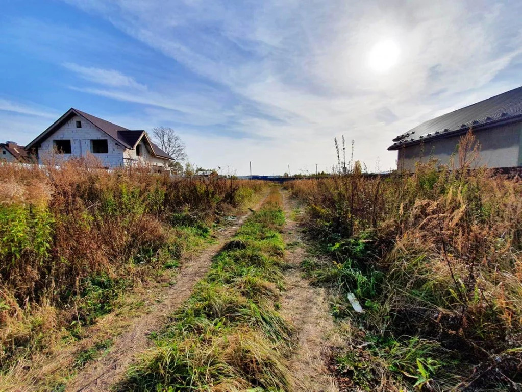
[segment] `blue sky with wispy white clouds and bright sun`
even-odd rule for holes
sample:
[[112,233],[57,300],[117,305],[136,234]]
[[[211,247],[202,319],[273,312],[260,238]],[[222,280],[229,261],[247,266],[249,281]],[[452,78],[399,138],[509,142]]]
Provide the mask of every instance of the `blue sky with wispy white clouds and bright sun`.
[[522,85],[520,1],[2,0],[0,139],[70,107],[172,127],[223,174],[369,171],[392,138]]

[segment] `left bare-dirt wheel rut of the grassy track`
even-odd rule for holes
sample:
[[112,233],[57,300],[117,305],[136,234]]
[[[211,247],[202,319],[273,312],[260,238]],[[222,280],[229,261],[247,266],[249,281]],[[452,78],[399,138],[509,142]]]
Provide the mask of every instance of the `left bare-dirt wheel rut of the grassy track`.
[[[265,197],[259,201],[255,209],[260,207],[264,199]],[[248,214],[218,233],[216,244],[208,246],[197,256],[186,260],[176,277],[176,283],[165,288],[160,295],[163,301],[157,304],[149,314],[134,320],[134,323],[128,326],[127,331],[116,338],[110,352],[104,358],[82,369],[66,390],[70,392],[108,391],[134,362],[136,354],[151,346],[151,341],[147,338],[148,333],[160,329],[165,317],[183,304],[192,293],[194,285],[205,277],[213,256],[234,235],[247,217]]]

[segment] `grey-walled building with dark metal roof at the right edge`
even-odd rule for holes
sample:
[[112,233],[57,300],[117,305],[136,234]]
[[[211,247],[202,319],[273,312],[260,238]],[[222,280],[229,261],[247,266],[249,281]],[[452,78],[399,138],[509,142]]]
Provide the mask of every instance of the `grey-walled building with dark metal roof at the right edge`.
[[522,87],[426,121],[393,139],[397,169],[413,171],[419,161],[448,163],[460,137],[472,129],[480,145],[480,164],[522,166]]

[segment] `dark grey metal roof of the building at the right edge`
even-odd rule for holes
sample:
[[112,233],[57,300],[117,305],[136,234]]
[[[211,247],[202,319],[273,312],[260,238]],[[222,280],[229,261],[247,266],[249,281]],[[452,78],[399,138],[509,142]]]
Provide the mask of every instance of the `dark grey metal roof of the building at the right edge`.
[[456,136],[475,130],[522,121],[522,87],[423,122],[393,139],[388,150],[419,144],[426,139]]

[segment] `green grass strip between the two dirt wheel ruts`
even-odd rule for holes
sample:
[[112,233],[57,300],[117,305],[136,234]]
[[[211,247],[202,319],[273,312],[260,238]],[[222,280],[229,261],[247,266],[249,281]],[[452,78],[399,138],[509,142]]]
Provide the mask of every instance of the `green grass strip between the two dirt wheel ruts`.
[[118,390],[290,390],[295,330],[278,313],[283,224],[273,188]]

